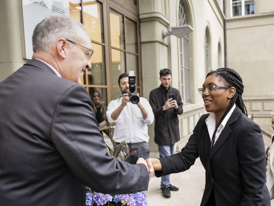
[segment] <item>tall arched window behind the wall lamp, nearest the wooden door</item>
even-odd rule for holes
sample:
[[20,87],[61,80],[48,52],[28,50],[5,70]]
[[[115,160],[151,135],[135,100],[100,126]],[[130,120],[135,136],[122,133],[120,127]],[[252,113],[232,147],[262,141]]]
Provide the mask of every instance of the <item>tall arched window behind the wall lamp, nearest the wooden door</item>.
[[[187,17],[183,1],[179,4],[179,26],[187,25]],[[188,34],[180,38],[180,78],[181,94],[184,104],[191,103],[190,98],[190,67],[189,67],[189,38]]]

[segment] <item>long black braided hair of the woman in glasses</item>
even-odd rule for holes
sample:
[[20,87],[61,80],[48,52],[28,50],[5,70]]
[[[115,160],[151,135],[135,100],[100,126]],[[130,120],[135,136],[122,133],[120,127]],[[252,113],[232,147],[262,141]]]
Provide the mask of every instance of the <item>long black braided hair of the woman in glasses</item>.
[[[207,159],[207,171],[209,171],[209,155],[210,155],[211,149],[213,148],[213,145],[215,142],[215,135],[216,135],[217,129],[219,128],[221,122],[223,121],[223,119],[225,118],[227,113],[233,107],[234,103],[241,109],[243,114],[245,114],[247,116],[247,110],[246,110],[245,104],[243,103],[243,98],[242,98],[244,86],[243,86],[243,81],[242,81],[241,76],[235,70],[230,69],[230,68],[219,68],[214,71],[211,70],[210,72],[207,73],[206,77],[208,77],[211,74],[214,74],[216,77],[219,77],[220,80],[223,80],[226,84],[225,86],[235,87],[236,92],[235,92],[235,95],[231,98],[221,120],[218,122],[217,126],[215,127],[215,130],[214,130],[214,133],[212,136],[212,140],[211,140],[211,144],[210,144],[208,159]],[[204,132],[204,134],[205,134],[205,132]],[[201,152],[202,152],[202,142],[204,139],[204,134],[202,136],[201,144],[200,144],[200,148],[199,148],[200,156],[201,156]]]

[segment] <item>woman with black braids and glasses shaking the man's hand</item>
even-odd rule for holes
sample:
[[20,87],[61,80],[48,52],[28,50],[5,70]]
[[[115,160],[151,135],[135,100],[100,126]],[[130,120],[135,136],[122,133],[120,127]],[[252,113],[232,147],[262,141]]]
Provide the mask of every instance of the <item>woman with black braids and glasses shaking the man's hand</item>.
[[270,205],[263,136],[247,117],[243,88],[235,70],[210,71],[198,89],[210,113],[200,117],[181,152],[146,160],[160,177],[185,171],[200,157],[206,170],[203,206]]

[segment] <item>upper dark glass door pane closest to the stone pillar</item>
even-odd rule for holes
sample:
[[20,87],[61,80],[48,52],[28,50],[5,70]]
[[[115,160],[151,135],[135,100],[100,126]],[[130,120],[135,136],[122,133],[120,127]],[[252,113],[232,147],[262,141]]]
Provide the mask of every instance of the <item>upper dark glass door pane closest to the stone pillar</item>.
[[126,50],[134,53],[138,52],[136,22],[126,18]]

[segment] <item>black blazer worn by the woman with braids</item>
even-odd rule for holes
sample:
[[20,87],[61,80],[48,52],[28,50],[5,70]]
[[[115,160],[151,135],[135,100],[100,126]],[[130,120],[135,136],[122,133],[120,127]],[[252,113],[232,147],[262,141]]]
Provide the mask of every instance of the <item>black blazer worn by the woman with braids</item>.
[[[162,171],[156,176],[185,171],[199,157],[205,120],[204,114],[181,152],[160,158]],[[210,147],[208,131],[201,145],[200,160],[207,168]],[[265,185],[265,147],[260,127],[236,106],[209,157],[206,185],[201,205],[206,205],[214,188],[216,205],[270,205]]]

